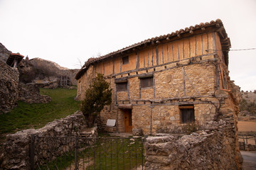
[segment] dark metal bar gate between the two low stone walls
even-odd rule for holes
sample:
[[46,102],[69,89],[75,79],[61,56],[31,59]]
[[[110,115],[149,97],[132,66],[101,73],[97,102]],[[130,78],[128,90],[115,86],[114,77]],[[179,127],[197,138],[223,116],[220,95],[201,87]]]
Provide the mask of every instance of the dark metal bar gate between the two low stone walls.
[[31,136],[31,169],[144,169],[143,138]]

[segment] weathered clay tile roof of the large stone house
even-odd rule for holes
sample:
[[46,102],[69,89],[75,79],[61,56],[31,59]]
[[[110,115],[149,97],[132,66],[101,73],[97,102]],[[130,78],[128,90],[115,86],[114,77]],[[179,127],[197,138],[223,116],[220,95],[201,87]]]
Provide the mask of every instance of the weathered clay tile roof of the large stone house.
[[[87,62],[85,62],[85,64],[82,66],[82,68],[80,69],[80,71],[78,72],[78,74],[75,76],[75,79],[79,79],[82,74],[86,71],[87,67],[90,65],[90,64],[93,64],[95,62],[99,62],[100,60],[104,60],[106,59],[107,57],[111,57],[113,55],[117,55],[121,52],[124,52],[124,51],[127,51],[127,50],[130,50],[130,49],[133,49],[134,47],[139,47],[140,45],[146,45],[147,43],[151,43],[151,44],[154,44],[154,43],[158,43],[158,41],[160,40],[171,40],[171,39],[174,39],[174,38],[181,38],[181,35],[185,34],[185,33],[193,33],[194,30],[200,30],[202,29],[203,31],[203,28],[208,28],[210,26],[216,26],[218,28],[221,28],[223,27],[223,23],[220,19],[217,19],[216,21],[210,21],[210,23],[206,22],[206,23],[200,23],[199,25],[196,24],[196,26],[190,26],[189,28],[186,27],[185,29],[180,29],[180,30],[176,30],[176,32],[172,32],[172,33],[169,33],[167,35],[160,35],[159,37],[155,37],[155,38],[149,38],[147,40],[144,40],[142,42],[138,42],[138,43],[135,43],[133,45],[130,45],[128,47],[124,47],[122,48],[121,50],[117,50],[117,51],[114,51],[114,52],[110,52],[109,54],[107,55],[103,55],[101,57],[97,57],[97,58],[90,58],[89,60],[87,60]],[[223,36],[225,38],[228,38],[228,35],[227,33],[225,33],[225,29],[224,29],[224,33],[223,33]],[[226,40],[225,42],[228,43],[227,47],[229,50],[229,47],[230,47],[230,40],[228,38],[228,40]]]

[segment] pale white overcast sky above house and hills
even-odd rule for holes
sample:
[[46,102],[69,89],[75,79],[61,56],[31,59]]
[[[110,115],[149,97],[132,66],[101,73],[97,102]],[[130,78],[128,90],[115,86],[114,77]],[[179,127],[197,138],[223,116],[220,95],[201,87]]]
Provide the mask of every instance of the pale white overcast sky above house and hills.
[[[0,42],[70,69],[142,40],[223,21],[231,49],[256,47],[256,1],[0,0]],[[230,51],[230,78],[256,89],[256,50]]]

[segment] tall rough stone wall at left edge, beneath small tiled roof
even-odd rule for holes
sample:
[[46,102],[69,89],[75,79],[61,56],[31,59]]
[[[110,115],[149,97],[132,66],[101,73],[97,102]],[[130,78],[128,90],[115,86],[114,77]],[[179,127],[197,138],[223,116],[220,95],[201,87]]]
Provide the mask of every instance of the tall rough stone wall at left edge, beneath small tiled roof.
[[18,69],[0,60],[0,114],[11,111],[18,98]]

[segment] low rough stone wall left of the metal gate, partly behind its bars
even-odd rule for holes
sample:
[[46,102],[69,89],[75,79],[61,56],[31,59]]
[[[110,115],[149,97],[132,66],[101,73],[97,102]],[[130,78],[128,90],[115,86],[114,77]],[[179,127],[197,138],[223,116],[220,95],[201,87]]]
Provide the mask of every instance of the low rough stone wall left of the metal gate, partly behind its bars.
[[[4,143],[4,150],[1,154],[1,168],[2,169],[30,169],[30,144],[31,135],[38,137],[97,137],[97,129],[92,128],[90,132],[83,132],[86,128],[85,120],[80,111],[75,112],[73,115],[68,115],[66,118],[60,120],[54,120],[48,123],[45,127],[35,130],[21,130],[11,135],[6,136],[6,142]],[[37,137],[36,137],[37,138]],[[35,140],[35,152],[34,162],[37,164],[38,157],[46,155],[43,159],[48,160],[48,154],[51,149],[50,143],[47,141],[37,142]],[[58,147],[66,148],[73,146],[73,140],[63,143],[61,140],[55,140],[58,143]],[[65,146],[63,146],[65,145]],[[52,152],[52,151],[51,151]],[[60,155],[64,149],[55,150],[55,155]]]

